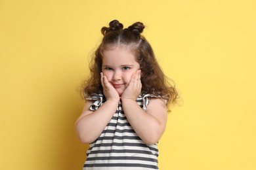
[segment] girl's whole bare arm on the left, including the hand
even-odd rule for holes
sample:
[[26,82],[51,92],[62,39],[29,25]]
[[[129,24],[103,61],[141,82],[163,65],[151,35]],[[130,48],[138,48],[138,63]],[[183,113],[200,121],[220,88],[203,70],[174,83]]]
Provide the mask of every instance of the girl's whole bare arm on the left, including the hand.
[[75,122],[78,137],[83,143],[93,143],[100,136],[119,104],[120,97],[114,87],[108,82],[106,76],[102,73],[100,76],[106,102],[93,112],[89,109],[93,102],[87,101],[81,116]]

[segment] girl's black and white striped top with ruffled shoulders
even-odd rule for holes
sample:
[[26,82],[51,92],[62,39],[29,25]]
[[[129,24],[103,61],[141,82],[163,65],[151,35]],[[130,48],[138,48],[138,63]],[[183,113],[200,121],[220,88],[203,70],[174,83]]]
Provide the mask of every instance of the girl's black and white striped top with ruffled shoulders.
[[[156,96],[140,94],[138,105],[146,110],[150,97]],[[97,110],[106,101],[102,94],[87,99],[95,101],[90,107],[91,110]],[[145,144],[140,139],[127,121],[121,101],[100,137],[89,145],[83,170],[91,169],[158,169],[157,144]]]

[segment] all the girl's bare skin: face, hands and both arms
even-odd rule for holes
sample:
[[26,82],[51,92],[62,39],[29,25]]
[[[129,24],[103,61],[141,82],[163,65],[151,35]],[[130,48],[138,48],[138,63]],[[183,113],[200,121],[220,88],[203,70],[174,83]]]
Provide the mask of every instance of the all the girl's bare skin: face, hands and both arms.
[[[127,46],[115,46],[103,52],[101,84],[106,102],[95,111],[87,101],[75,129],[83,143],[95,141],[116,112],[119,100],[127,120],[146,144],[155,144],[163,135],[167,107],[160,98],[151,98],[146,111],[137,104],[141,92],[140,65]],[[96,123],[95,123],[96,122]]]

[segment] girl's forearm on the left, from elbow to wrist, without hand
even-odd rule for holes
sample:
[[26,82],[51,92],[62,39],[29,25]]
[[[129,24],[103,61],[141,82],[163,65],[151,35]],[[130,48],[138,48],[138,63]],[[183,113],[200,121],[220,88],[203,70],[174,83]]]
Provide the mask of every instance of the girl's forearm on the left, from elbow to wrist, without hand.
[[92,143],[100,136],[116,112],[118,103],[119,101],[106,101],[95,112],[81,116],[77,120],[75,129],[83,143]]

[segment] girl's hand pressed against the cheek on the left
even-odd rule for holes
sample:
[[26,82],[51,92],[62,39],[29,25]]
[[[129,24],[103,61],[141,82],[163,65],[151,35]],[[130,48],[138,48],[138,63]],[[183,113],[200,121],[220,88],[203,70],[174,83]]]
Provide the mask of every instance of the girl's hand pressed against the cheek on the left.
[[108,78],[100,73],[100,82],[103,87],[103,94],[106,97],[106,100],[115,100],[119,101],[120,97],[116,89],[108,82]]

